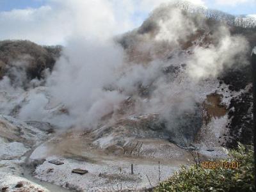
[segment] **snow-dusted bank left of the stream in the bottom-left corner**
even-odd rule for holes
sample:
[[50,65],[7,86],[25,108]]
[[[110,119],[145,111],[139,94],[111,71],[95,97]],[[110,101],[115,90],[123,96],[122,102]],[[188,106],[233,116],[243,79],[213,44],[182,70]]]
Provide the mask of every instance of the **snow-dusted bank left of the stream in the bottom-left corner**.
[[47,139],[47,133],[26,123],[0,115],[0,188],[2,191],[45,191],[44,187],[25,179],[26,154]]

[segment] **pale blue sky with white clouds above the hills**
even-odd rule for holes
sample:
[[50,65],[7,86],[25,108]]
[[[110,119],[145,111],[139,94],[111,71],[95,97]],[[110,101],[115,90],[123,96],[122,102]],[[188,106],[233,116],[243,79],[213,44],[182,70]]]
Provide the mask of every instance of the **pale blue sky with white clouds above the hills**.
[[[74,33],[94,35],[102,26],[108,28],[105,36],[110,35],[109,31],[124,33],[140,26],[159,4],[170,1],[0,0],[0,40],[29,39],[45,45],[65,44]],[[256,0],[189,1],[234,15],[256,15]]]

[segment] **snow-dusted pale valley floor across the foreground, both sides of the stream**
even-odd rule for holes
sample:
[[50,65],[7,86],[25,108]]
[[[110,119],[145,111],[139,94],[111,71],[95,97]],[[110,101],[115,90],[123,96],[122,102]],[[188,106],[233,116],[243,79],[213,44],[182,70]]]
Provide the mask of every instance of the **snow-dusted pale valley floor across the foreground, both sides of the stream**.
[[[109,145],[108,142],[101,146],[93,145],[83,131],[71,130],[53,136],[10,116],[1,116],[1,126],[8,127],[0,131],[0,146],[3,149],[0,156],[0,187],[6,191],[48,191],[35,184],[35,180],[26,179],[27,170],[24,169],[32,168],[33,164],[38,164],[33,173],[35,178],[51,185],[76,191],[118,191],[121,188],[155,186],[159,176],[161,180],[167,179],[189,159],[185,150],[159,139],[140,140],[143,146],[139,154],[115,154],[104,146]],[[130,140],[131,143],[137,142],[132,138]],[[64,164],[49,163],[52,159]],[[131,174],[131,164],[134,174]],[[88,173],[77,175],[72,173],[74,168],[86,169]]]

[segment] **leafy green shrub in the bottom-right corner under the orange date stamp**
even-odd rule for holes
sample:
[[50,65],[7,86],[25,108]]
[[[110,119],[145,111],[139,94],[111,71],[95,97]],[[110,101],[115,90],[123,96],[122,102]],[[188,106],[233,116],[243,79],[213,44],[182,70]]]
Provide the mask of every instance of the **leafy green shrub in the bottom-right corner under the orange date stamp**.
[[225,161],[239,162],[239,168],[205,169],[192,165],[182,166],[170,179],[161,182],[154,191],[255,191],[253,149],[239,144],[237,150],[228,152]]

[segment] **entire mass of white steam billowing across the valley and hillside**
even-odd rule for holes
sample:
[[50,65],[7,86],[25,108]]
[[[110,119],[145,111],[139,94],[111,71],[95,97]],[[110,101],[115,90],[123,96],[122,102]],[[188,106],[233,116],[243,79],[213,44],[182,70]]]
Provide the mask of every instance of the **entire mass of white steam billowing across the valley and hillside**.
[[[77,23],[45,86],[22,90],[18,99],[14,95],[20,90],[10,92],[13,106],[20,106],[19,118],[94,129],[104,116],[115,122],[122,104],[132,98],[135,107],[123,116],[159,113],[166,129],[175,131],[184,123],[177,123],[180,116],[200,116],[200,81],[247,62],[243,36],[231,36],[221,22],[218,28],[209,26],[204,15],[173,4],[157,8],[141,28],[118,38],[113,31],[122,30],[111,6],[96,11],[83,26]],[[10,86],[7,77],[0,81],[4,84]]]

